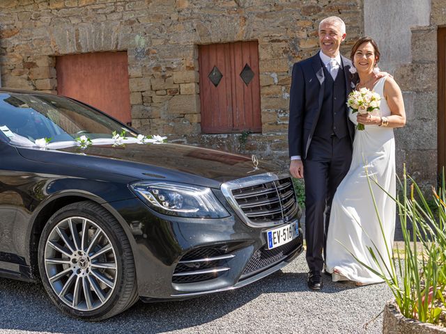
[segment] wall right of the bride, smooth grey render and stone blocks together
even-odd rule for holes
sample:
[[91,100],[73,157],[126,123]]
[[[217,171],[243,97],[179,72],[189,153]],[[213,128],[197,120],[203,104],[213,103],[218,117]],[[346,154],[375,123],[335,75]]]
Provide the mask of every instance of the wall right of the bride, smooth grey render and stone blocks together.
[[436,27],[429,22],[431,0],[364,0],[364,33],[403,91],[407,123],[394,131],[397,171],[406,163],[426,189],[437,173]]

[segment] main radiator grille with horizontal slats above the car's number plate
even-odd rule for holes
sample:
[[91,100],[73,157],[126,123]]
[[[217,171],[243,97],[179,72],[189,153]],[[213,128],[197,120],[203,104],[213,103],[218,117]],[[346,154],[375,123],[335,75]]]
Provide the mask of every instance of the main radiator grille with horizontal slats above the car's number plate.
[[289,221],[298,212],[294,186],[290,177],[231,189],[238,207],[251,223]]

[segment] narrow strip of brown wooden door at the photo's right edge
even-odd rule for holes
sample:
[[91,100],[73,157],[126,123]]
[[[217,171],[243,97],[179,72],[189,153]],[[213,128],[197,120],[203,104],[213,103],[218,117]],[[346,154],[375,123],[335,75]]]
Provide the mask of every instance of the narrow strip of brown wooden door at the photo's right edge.
[[438,28],[438,172],[446,166],[446,28]]

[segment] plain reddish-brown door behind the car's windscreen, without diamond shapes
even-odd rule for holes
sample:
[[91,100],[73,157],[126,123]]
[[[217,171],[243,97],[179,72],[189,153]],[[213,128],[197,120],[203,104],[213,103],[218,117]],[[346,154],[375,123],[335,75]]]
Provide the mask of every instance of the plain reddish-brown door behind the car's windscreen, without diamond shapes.
[[73,54],[56,58],[57,93],[132,122],[127,52]]

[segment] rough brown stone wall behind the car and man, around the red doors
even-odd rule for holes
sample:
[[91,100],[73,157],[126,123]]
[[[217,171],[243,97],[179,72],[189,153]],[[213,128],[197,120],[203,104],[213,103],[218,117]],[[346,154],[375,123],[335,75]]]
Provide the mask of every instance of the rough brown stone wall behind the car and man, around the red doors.
[[[330,15],[347,24],[348,54],[362,0],[2,0],[2,84],[54,92],[55,56],[128,51],[134,127],[286,165],[291,67]],[[197,45],[243,40],[259,41],[262,134],[201,135]]]

